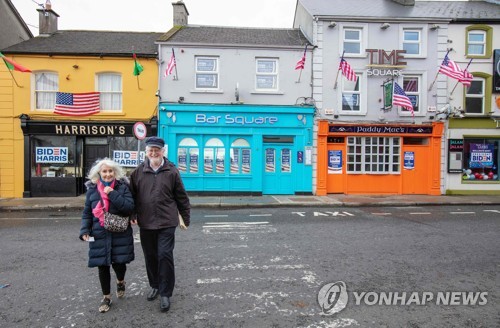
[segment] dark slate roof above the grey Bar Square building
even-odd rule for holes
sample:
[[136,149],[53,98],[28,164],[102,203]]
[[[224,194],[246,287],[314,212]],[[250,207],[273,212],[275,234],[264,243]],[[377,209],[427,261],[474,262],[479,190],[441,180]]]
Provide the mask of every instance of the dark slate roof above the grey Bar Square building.
[[299,29],[196,25],[173,27],[157,41],[179,45],[239,45],[283,48],[302,48],[308,43]]

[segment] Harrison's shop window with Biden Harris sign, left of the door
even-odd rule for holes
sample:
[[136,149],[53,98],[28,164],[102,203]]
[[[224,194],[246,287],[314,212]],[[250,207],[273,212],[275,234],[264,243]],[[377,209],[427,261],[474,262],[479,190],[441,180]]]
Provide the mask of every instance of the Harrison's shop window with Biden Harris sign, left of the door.
[[81,177],[74,136],[34,136],[31,138],[32,177]]

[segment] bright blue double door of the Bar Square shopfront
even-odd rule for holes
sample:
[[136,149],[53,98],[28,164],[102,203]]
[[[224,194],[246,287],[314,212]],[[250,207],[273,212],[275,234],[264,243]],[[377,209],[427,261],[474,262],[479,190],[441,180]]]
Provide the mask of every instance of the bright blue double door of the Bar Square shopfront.
[[293,195],[293,144],[264,144],[262,194]]

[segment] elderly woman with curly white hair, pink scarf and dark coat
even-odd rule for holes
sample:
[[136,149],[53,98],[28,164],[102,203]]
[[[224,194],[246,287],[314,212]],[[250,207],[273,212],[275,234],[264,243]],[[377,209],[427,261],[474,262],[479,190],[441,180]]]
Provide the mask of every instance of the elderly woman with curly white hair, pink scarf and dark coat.
[[116,295],[123,298],[127,264],[134,260],[134,238],[130,223],[125,232],[104,229],[104,212],[129,216],[134,210],[134,200],[122,168],[109,158],[99,160],[88,179],[80,239],[89,242],[88,266],[99,269],[104,295],[99,312],[107,312],[111,305],[110,266],[116,274]]

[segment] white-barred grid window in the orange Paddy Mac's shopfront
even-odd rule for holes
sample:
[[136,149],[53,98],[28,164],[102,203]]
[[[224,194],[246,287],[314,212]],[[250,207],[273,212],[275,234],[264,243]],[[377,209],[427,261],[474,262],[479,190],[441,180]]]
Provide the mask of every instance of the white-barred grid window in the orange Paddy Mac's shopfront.
[[348,137],[348,173],[399,173],[398,137]]

